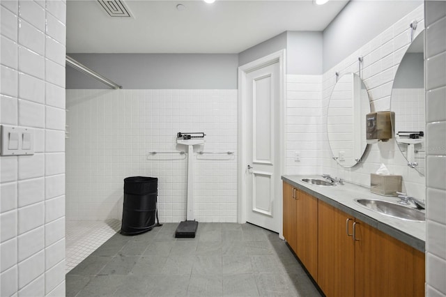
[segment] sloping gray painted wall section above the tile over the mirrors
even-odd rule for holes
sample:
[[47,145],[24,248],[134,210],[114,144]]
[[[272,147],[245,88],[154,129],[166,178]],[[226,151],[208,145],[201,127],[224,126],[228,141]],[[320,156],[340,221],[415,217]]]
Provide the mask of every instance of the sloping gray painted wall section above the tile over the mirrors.
[[323,71],[327,71],[372,40],[422,0],[352,0],[323,31]]

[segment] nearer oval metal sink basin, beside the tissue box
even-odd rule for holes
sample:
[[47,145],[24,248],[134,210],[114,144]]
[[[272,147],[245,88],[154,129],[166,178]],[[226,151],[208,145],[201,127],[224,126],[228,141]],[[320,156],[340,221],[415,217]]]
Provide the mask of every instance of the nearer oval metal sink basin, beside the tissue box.
[[422,211],[401,204],[375,199],[355,199],[355,202],[371,209],[371,211],[376,211],[392,218],[415,222],[424,222],[426,220]]

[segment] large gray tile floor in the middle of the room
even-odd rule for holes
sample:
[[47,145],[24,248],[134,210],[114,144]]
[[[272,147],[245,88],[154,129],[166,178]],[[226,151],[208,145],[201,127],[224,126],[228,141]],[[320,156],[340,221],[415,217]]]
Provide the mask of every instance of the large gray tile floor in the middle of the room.
[[116,234],[66,275],[67,296],[321,296],[285,242],[252,224]]

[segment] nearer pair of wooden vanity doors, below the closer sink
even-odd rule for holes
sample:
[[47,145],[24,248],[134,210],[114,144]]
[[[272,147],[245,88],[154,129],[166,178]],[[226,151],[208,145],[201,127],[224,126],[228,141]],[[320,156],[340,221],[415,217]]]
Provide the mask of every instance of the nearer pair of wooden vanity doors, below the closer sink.
[[325,296],[424,296],[424,253],[323,201],[318,208]]

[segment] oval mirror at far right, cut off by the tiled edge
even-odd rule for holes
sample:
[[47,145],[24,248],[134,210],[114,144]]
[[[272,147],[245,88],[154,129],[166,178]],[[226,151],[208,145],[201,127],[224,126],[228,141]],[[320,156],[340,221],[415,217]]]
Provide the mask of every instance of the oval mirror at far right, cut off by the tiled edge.
[[390,110],[395,113],[395,139],[408,166],[424,175],[426,154],[424,105],[424,31],[410,44],[393,81]]

